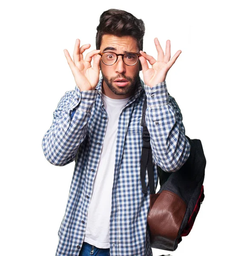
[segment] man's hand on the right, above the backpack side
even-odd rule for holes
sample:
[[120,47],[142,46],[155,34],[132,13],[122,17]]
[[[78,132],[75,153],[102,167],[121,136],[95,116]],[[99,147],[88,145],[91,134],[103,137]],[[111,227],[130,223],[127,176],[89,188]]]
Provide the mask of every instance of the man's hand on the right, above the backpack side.
[[[166,43],[165,55],[157,38],[154,39],[154,43],[158,53],[157,61],[155,60],[155,58],[146,54],[143,51],[140,51],[140,54],[142,56],[139,57],[139,60],[142,64],[144,82],[151,88],[156,84],[165,81],[168,70],[172,67],[172,65],[175,63],[176,59],[182,52],[181,50],[177,51],[173,58],[171,58],[170,40],[168,40]],[[152,68],[148,67],[147,61],[149,61],[149,63],[152,65]]]

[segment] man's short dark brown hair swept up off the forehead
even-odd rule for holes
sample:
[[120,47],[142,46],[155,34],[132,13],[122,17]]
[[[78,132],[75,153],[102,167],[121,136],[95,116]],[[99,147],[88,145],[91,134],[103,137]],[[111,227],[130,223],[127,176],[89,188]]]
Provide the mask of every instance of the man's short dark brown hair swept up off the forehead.
[[139,50],[142,50],[144,34],[145,25],[141,19],[137,19],[129,12],[109,9],[100,16],[97,26],[96,49],[100,49],[103,35],[130,35],[136,38]]

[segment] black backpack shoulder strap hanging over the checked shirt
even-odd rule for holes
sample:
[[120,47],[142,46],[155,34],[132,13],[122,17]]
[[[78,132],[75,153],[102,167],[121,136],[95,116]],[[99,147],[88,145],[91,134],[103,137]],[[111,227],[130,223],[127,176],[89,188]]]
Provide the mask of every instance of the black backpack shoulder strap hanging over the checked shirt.
[[154,194],[155,187],[154,187],[154,173],[153,173],[153,157],[152,157],[152,149],[150,146],[150,134],[147,129],[146,120],[145,120],[146,109],[147,109],[147,98],[145,98],[145,101],[143,103],[143,108],[142,108],[141,125],[143,126],[143,133],[142,133],[143,146],[142,146],[142,156],[141,156],[140,177],[141,177],[141,183],[142,183],[142,192],[144,194],[147,194],[147,186],[145,183],[146,168],[147,168],[150,194]]

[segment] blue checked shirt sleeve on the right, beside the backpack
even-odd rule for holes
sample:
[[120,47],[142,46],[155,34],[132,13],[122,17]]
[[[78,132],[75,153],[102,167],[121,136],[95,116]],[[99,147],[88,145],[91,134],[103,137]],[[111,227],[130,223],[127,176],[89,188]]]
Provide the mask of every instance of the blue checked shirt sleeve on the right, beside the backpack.
[[185,136],[182,113],[175,99],[168,95],[165,81],[152,88],[144,87],[147,96],[145,118],[153,160],[165,172],[175,172],[186,162],[191,148]]

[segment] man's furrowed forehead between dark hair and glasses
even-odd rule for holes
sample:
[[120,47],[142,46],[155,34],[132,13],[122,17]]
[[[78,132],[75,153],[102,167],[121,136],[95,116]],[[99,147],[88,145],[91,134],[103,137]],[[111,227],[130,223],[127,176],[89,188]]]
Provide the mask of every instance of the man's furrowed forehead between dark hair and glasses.
[[[114,49],[106,49],[106,48]],[[116,35],[103,35],[100,50],[109,50],[111,52],[125,53],[125,52],[138,52],[137,41],[130,35],[116,36]]]

